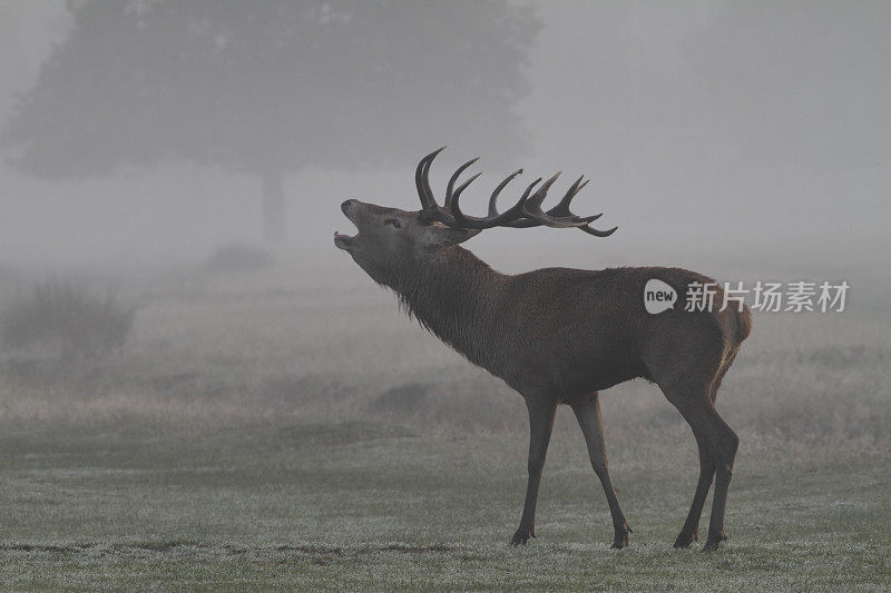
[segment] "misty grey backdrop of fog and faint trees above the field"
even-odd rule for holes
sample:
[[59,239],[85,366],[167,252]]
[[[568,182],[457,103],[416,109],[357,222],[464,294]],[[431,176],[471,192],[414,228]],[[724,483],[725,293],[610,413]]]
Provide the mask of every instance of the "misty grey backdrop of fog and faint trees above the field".
[[502,269],[887,276],[890,29],[887,2],[6,0],[0,263],[188,264],[265,235],[364,280],[331,243],[340,201],[417,209],[413,167],[449,145],[434,188],[480,156],[471,211],[518,167],[562,170],[619,226],[469,244]]

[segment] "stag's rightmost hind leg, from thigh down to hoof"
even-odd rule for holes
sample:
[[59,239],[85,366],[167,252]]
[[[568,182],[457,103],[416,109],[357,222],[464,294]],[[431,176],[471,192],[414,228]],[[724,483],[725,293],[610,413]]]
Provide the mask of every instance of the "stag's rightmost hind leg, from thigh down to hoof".
[[[694,435],[698,435],[697,443],[702,442],[707,448],[707,453],[711,454],[715,470],[715,495],[708,523],[708,538],[703,550],[717,550],[718,544],[727,538],[724,534],[724,512],[727,505],[727,491],[733,476],[733,462],[736,457],[740,438],[715,409],[711,385],[673,385],[668,388],[663,388],[663,392],[668,401],[677,407],[687,424],[691,425]],[[704,485],[705,482],[702,474],[703,472],[707,473],[708,466],[706,464],[703,467],[702,457],[701,448],[699,484],[696,487],[693,505],[691,505],[688,521],[691,515],[694,515],[694,511],[701,511],[701,504],[697,504],[699,503],[698,498],[702,498],[702,503],[704,503],[707,494],[707,486]],[[705,492],[701,492],[701,490]],[[685,527],[687,527],[686,523]],[[682,530],[682,534],[685,533],[687,532]]]

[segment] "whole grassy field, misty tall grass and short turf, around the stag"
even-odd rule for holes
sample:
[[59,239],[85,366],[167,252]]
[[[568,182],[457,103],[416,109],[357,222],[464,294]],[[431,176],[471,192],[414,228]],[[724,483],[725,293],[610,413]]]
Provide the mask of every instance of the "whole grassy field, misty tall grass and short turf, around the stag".
[[889,323],[755,319],[718,402],[742,444],[717,553],[670,547],[695,443],[644,382],[604,395],[630,547],[561,409],[538,537],[508,548],[522,403],[392,297],[273,276],[123,296],[135,333],[105,360],[3,355],[2,590],[891,587]]

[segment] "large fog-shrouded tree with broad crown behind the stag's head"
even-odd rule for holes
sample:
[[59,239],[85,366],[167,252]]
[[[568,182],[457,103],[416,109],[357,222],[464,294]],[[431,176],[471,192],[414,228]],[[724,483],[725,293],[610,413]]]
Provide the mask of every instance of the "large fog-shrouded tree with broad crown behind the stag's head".
[[262,180],[281,240],[288,171],[403,161],[430,134],[523,144],[539,21],[516,2],[92,0],[72,18],[4,135],[41,177],[218,164]]

